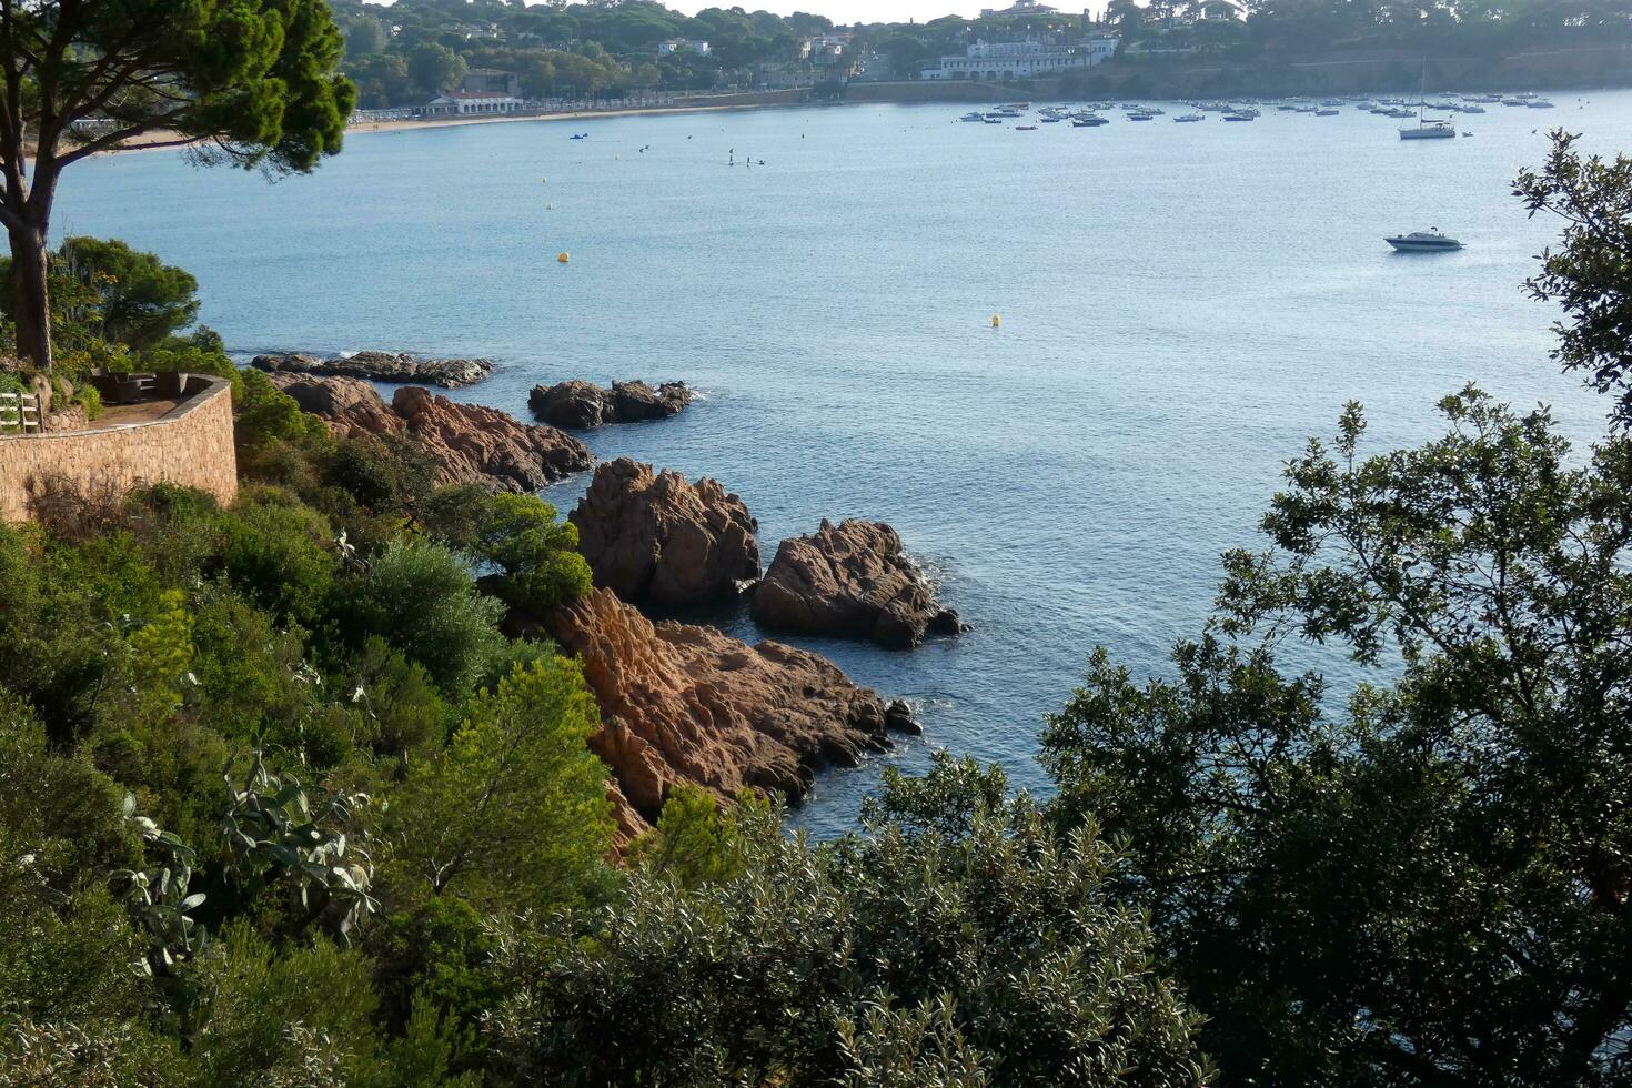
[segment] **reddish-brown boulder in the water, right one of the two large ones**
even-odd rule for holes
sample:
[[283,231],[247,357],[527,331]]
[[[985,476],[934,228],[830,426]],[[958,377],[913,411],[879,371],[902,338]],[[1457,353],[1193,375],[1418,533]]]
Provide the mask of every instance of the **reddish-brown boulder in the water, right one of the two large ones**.
[[814,535],[783,540],[754,587],[752,615],[770,630],[868,639],[891,649],[965,630],[901,551],[899,533],[860,520],[823,520]]

